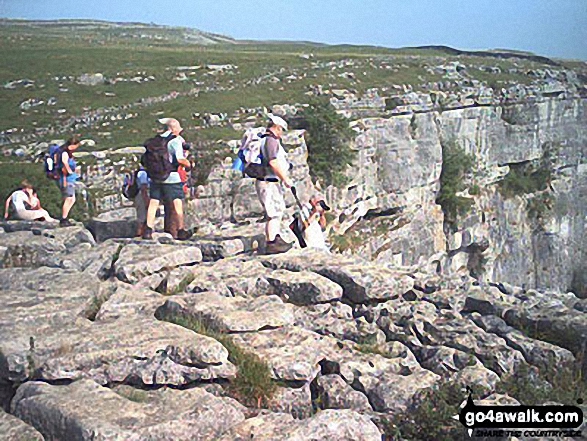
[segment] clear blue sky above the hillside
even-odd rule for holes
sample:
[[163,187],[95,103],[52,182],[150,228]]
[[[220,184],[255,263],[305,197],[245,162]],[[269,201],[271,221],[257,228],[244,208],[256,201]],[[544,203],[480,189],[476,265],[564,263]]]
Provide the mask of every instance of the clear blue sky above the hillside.
[[152,22],[253,40],[507,48],[587,60],[587,0],[0,0],[0,17]]

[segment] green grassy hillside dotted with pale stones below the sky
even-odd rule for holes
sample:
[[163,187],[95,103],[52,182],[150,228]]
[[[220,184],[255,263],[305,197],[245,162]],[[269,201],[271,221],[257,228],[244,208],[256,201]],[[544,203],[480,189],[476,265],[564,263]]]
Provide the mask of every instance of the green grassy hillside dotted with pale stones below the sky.
[[[318,85],[359,94],[402,84],[418,90],[442,80],[443,73],[434,68],[451,61],[465,64],[471,79],[493,86],[528,83],[524,69],[549,67],[528,59],[455,53],[441,47],[237,42],[144,24],[0,20],[0,132],[29,134],[31,141],[77,132],[103,149],[140,144],[157,128],[158,117],[173,115],[182,120],[188,137],[238,138],[240,133],[230,128],[203,128],[192,115],[303,103]],[[237,67],[223,72],[209,68],[224,64]],[[501,72],[479,69],[485,65]],[[103,74],[103,84],[78,83],[82,74],[95,73]],[[9,84],[18,80],[27,81]],[[76,127],[76,120],[96,114],[101,119],[91,127]]]

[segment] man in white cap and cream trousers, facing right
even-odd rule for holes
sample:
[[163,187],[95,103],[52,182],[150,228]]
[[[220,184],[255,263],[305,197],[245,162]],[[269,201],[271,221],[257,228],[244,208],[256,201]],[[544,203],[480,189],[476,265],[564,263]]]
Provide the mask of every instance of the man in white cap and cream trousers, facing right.
[[285,212],[283,186],[289,189],[293,184],[289,177],[287,153],[279,141],[283,131],[287,130],[287,123],[273,114],[269,114],[269,119],[261,145],[262,163],[266,167],[266,173],[264,177],[256,178],[255,189],[267,216],[266,253],[277,254],[286,252],[293,245],[283,240],[279,234],[281,218]]

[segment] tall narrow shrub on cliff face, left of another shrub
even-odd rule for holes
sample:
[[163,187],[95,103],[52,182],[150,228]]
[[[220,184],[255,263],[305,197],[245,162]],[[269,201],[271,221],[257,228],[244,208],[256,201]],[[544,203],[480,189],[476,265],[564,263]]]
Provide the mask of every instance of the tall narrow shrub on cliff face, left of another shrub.
[[447,225],[454,227],[458,217],[464,215],[472,205],[470,199],[457,196],[457,193],[467,188],[465,178],[471,174],[473,164],[473,157],[454,140],[442,144],[440,191],[436,203],[442,207]]

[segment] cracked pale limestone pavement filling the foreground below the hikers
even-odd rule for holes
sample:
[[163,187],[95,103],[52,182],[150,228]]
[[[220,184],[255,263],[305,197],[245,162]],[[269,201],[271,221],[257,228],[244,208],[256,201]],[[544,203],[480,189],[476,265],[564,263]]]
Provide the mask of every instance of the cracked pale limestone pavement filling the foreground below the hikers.
[[[56,251],[59,267],[25,254],[0,270],[15,425],[56,440],[381,439],[374,422],[443,382],[486,397],[522,368],[573,365],[585,340],[573,294],[319,250],[204,262],[197,243],[88,239]],[[243,381],[275,391],[244,396]]]

